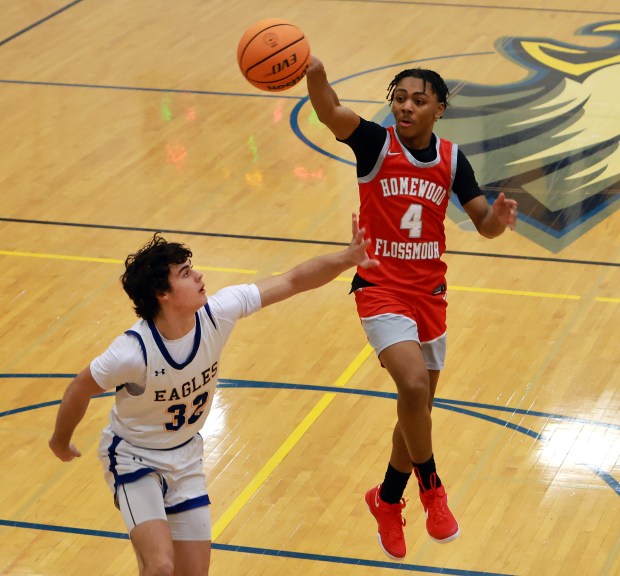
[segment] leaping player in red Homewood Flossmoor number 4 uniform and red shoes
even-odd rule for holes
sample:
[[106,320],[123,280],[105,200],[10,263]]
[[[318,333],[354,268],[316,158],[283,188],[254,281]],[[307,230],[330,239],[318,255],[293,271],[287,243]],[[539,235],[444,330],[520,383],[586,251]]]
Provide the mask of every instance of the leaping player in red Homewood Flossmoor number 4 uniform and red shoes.
[[366,493],[383,551],[405,557],[403,494],[412,473],[438,542],[458,537],[435,468],[431,408],[446,354],[444,219],[451,192],[487,238],[513,228],[517,203],[500,193],[490,205],[456,144],[433,127],[447,106],[448,88],[432,70],[403,70],[388,87],[395,124],[385,128],[342,106],[322,62],[312,57],[308,94],[319,120],[351,147],[357,160],[360,226],[381,266],[358,268],[352,284],[368,341],[398,391],[398,421],[383,483]]

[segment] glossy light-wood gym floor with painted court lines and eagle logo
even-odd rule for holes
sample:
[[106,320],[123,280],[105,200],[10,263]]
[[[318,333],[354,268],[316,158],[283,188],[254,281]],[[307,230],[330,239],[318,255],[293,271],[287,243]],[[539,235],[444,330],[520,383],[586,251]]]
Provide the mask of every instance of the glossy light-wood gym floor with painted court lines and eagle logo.
[[620,6],[617,0],[0,0],[0,573],[137,569],[96,458],[47,448],[72,375],[129,327],[118,277],[154,231],[188,243],[210,292],[349,239],[352,155],[305,82],[260,93],[237,41],[300,26],[339,95],[384,119],[422,65],[452,87],[437,131],[490,197],[488,241],[446,222],[449,348],[434,444],[462,535],[389,562],[364,492],[383,479],[394,386],[340,278],[243,320],[204,430],[213,576],[620,574]]

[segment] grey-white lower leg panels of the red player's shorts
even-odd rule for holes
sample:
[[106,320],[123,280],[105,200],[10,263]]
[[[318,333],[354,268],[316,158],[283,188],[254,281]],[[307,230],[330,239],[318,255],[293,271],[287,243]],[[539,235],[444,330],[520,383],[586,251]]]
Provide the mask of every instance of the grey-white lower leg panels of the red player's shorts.
[[368,343],[377,356],[387,347],[399,342],[417,342],[427,370],[442,370],[446,361],[446,332],[434,340],[420,342],[418,325],[412,318],[402,314],[378,314],[361,318]]

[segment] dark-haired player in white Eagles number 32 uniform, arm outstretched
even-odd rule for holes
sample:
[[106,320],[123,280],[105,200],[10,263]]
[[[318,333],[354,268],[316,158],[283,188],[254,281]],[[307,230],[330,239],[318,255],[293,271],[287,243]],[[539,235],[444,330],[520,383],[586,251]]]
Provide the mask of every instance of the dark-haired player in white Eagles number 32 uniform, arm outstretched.
[[352,266],[377,266],[366,255],[369,242],[353,215],[346,249],[209,298],[192,252],[182,244],[156,234],[127,258],[123,288],[140,320],[69,384],[49,445],[64,462],[80,456],[71,438],[90,399],[116,391],[99,458],[141,576],[209,572],[210,500],[199,431],[237,320],[318,288]]

